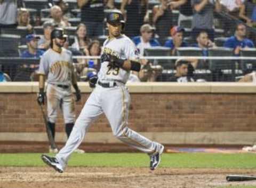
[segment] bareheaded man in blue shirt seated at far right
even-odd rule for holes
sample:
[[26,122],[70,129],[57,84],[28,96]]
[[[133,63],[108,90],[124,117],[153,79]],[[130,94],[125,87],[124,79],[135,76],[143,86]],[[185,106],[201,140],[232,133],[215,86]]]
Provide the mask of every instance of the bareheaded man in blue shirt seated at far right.
[[235,55],[239,55],[243,48],[254,48],[253,42],[246,38],[246,27],[243,23],[237,24],[235,35],[226,40],[224,47],[233,48]]

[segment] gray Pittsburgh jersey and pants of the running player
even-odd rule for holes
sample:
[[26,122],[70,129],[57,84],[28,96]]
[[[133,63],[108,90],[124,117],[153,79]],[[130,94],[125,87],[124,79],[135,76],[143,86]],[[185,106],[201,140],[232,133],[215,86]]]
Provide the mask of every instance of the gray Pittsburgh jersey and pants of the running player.
[[[124,35],[111,40],[107,39],[103,44],[103,53],[122,59],[136,59],[139,54],[133,42]],[[130,71],[122,68],[111,69],[108,62],[102,62],[99,81],[109,86],[102,87],[103,85],[97,84],[87,99],[65,147],[56,156],[62,169],[67,165],[71,153],[83,141],[90,124],[102,113],[106,115],[111,130],[117,139],[143,152],[161,153],[163,151],[162,144],[145,138],[127,126],[131,100],[125,83],[129,75]]]

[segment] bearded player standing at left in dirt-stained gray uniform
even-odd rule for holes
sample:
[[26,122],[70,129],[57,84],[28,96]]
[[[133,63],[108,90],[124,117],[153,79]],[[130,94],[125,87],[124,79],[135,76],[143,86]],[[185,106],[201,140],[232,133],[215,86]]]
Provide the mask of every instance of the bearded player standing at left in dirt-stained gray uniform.
[[[44,82],[47,78],[47,116],[53,139],[59,107],[62,109],[68,137],[74,127],[75,104],[71,84],[76,90],[76,101],[81,99],[74,74],[71,52],[62,48],[67,37],[63,29],[54,29],[51,32],[51,48],[44,53],[39,64],[39,95],[37,101],[39,105],[44,105]],[[58,149],[50,147],[49,151],[57,153]],[[77,149],[76,152],[83,153],[84,151]]]

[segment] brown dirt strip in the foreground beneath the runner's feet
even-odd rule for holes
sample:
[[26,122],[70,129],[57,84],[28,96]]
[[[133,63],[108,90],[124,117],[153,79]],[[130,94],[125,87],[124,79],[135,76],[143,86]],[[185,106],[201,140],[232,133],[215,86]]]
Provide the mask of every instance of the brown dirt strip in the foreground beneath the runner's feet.
[[256,174],[253,170],[69,167],[57,173],[49,167],[0,167],[1,188],[48,187],[219,187],[255,185],[256,181],[227,182],[227,174]]

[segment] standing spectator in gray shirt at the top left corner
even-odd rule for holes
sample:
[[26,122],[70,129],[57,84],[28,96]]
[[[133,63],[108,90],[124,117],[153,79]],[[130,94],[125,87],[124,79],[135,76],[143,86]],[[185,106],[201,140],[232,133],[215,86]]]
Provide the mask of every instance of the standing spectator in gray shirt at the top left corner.
[[1,28],[17,27],[17,0],[0,0],[0,32]]

